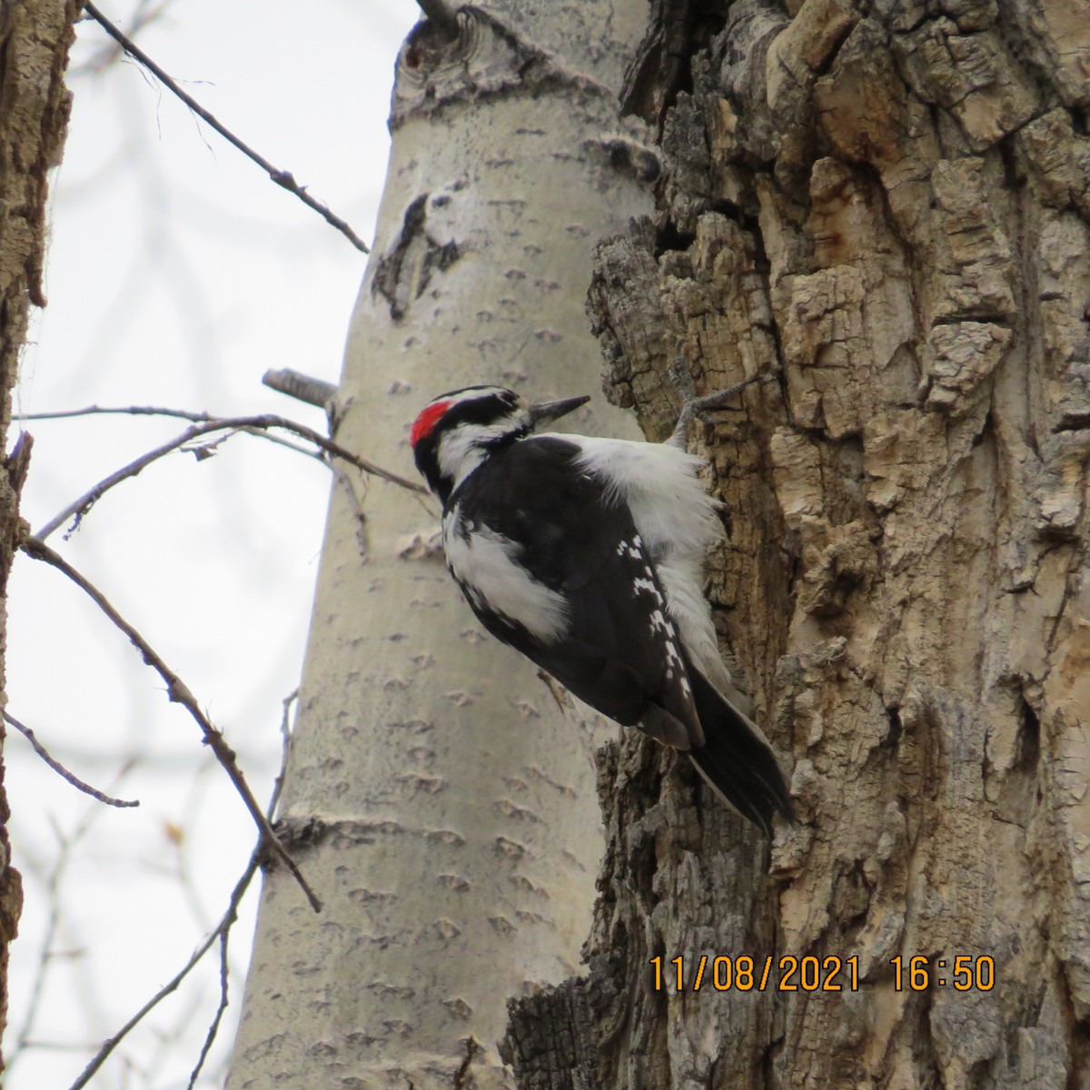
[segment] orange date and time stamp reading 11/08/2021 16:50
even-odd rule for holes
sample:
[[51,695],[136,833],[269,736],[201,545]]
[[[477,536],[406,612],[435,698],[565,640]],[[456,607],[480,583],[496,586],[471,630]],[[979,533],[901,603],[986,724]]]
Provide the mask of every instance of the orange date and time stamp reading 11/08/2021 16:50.
[[[702,988],[716,992],[858,992],[859,956],[839,958],[794,957],[788,954],[774,958],[738,957],[702,954],[681,956],[664,961],[653,957],[656,992],[699,992]],[[995,959],[986,954],[953,957],[915,957],[889,959],[893,966],[894,991],[927,992],[931,988],[953,988],[957,992],[990,992],[995,986]],[[671,968],[673,967],[673,968]]]

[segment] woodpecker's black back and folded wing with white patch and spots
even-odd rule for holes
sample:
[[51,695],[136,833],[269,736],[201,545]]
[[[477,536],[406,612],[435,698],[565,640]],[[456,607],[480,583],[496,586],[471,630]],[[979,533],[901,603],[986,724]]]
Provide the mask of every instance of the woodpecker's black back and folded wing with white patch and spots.
[[544,436],[493,453],[450,498],[448,566],[485,628],[580,700],[677,749],[702,744],[653,562],[578,455]]

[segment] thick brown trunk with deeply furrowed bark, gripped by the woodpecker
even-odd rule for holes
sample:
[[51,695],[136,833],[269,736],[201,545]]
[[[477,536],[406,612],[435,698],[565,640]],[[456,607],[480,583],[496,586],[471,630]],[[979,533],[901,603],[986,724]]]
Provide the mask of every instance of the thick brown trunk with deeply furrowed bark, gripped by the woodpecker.
[[591,305],[651,437],[675,337],[776,375],[694,441],[799,824],[609,747],[592,973],[516,1009],[520,1086],[1090,1086],[1090,4],[655,11],[658,210]]

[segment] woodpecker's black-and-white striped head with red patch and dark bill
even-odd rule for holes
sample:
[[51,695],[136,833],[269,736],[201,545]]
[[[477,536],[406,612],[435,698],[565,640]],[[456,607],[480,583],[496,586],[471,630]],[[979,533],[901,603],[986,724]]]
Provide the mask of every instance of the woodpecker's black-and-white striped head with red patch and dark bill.
[[451,492],[491,452],[590,400],[565,398],[531,404],[502,386],[468,386],[440,393],[425,405],[409,435],[416,469],[446,504]]

